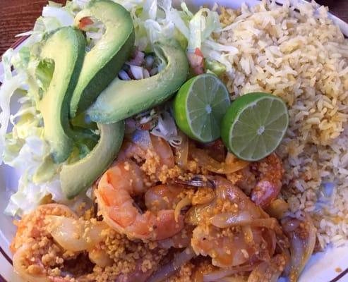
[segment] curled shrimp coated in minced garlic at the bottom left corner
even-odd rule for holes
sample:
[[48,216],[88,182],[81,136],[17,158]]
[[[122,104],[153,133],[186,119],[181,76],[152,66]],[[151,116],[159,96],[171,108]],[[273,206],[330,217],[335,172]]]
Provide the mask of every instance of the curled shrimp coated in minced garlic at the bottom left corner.
[[[62,281],[60,276],[51,276],[52,265],[44,259],[47,254],[57,257],[54,267],[61,267],[59,257],[63,257],[64,248],[60,247],[47,230],[47,218],[64,218],[77,221],[78,216],[61,204],[44,204],[30,214],[26,214],[16,225],[18,231],[11,243],[13,252],[13,269],[28,282]],[[75,255],[66,253],[66,259]],[[59,263],[58,263],[59,262]]]

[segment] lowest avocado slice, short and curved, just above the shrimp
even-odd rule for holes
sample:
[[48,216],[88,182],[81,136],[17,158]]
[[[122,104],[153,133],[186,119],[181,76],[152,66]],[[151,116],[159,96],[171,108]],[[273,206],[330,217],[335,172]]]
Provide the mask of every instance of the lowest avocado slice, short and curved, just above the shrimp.
[[68,199],[87,189],[112,164],[124,138],[124,121],[98,124],[100,140],[85,158],[61,168],[61,189]]

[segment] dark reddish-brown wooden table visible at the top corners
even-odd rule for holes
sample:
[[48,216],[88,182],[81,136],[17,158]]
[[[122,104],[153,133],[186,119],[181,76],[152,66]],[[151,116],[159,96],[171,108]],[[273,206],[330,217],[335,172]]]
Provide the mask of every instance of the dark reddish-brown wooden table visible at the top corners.
[[[64,3],[65,0],[54,0]],[[318,0],[348,22],[348,0]],[[47,0],[0,0],[0,54],[16,42],[15,35],[32,29]]]

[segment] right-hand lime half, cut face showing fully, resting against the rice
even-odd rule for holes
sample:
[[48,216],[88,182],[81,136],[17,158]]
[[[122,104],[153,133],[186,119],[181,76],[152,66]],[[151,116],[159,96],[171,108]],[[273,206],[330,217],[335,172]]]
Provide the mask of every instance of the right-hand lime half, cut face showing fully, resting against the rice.
[[237,98],[222,120],[222,140],[239,159],[258,161],[282,141],[289,125],[287,105],[266,93]]

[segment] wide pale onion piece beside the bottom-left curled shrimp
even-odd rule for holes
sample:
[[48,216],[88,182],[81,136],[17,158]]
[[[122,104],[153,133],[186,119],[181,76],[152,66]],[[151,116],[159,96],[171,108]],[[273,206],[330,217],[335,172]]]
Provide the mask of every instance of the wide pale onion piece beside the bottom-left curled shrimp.
[[47,216],[49,226],[47,230],[51,233],[64,250],[78,252],[90,250],[102,241],[102,231],[107,227],[103,222],[83,221],[71,219],[64,216]]

